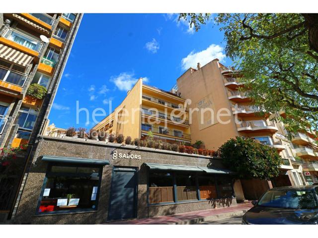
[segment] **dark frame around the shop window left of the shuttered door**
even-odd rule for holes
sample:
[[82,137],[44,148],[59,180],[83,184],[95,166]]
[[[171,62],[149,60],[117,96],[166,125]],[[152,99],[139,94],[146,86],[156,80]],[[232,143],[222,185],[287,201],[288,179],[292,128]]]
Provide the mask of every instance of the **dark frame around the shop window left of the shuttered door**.
[[[41,201],[43,199],[43,193],[44,193],[44,189],[46,187],[46,183],[48,180],[48,176],[50,175],[55,175],[55,176],[70,176],[70,174],[68,173],[58,173],[58,172],[51,172],[51,169],[53,166],[62,166],[62,167],[85,167],[85,168],[98,168],[99,167],[99,171],[98,171],[98,175],[99,175],[99,179],[98,179],[98,189],[97,189],[97,193],[96,193],[96,204],[95,204],[95,208],[78,208],[78,209],[74,209],[74,210],[63,210],[63,211],[52,211],[52,212],[39,212],[39,208],[41,205]],[[81,176],[81,175],[87,175],[87,174],[77,174],[77,176]],[[101,179],[103,176],[103,166],[96,166],[96,165],[89,165],[89,164],[76,164],[76,163],[72,163],[72,164],[68,164],[68,163],[55,163],[55,162],[49,162],[47,165],[47,169],[45,172],[45,178],[43,179],[43,184],[41,187],[41,192],[38,198],[38,202],[37,202],[37,206],[36,206],[36,210],[35,210],[35,215],[37,216],[50,216],[50,215],[57,215],[57,214],[76,214],[76,213],[87,213],[87,212],[97,212],[98,211],[98,203],[99,203],[99,196],[100,196],[100,189],[101,189]],[[76,176],[74,176],[76,177]]]

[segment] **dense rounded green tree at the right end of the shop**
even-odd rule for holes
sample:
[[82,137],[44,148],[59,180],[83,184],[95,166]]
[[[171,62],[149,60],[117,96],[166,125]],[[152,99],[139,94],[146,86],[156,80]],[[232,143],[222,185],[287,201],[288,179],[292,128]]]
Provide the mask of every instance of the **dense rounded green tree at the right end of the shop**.
[[276,149],[253,139],[237,136],[225,142],[219,151],[224,166],[237,172],[239,179],[271,179],[279,175],[282,159]]

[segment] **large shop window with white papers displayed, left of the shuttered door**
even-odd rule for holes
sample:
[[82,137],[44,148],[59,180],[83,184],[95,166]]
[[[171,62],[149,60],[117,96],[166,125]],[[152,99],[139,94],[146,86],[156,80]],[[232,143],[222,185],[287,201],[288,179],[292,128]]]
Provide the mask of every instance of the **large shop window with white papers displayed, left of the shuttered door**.
[[97,210],[102,168],[49,165],[38,213]]

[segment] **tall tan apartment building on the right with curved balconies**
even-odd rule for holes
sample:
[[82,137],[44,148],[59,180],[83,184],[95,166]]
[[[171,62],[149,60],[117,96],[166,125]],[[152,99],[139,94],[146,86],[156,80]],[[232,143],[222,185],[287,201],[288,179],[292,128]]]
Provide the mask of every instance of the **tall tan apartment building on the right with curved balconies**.
[[[203,67],[198,63],[197,68],[189,68],[177,79],[177,84],[171,91],[192,101],[189,110],[199,108],[203,112],[209,112],[209,110],[214,112],[213,115],[207,112],[192,114],[190,124],[192,142],[202,140],[207,148],[217,149],[235,136],[253,138],[259,143],[276,148],[283,158],[280,167],[281,175],[272,179],[271,185],[310,183],[311,181],[306,179],[308,176],[306,177],[302,170],[303,161],[299,160],[298,156],[307,160],[317,158],[314,149],[308,147],[311,142],[314,142],[314,135],[306,132],[306,138],[308,138],[306,141],[299,136],[289,141],[284,125],[271,120],[275,115],[266,113],[260,107],[253,105],[251,98],[239,91],[239,87],[244,87],[244,83],[240,80],[242,77],[241,72],[232,67],[226,67],[215,59]],[[224,115],[220,118],[224,122],[228,121],[227,123],[217,119],[218,112]],[[302,144],[297,146],[296,143],[299,144],[299,142]],[[309,172],[316,171],[318,167],[313,161],[307,161],[305,168],[304,171]],[[242,185],[244,188],[243,183]],[[247,188],[246,185],[244,190],[252,189],[250,186]]]

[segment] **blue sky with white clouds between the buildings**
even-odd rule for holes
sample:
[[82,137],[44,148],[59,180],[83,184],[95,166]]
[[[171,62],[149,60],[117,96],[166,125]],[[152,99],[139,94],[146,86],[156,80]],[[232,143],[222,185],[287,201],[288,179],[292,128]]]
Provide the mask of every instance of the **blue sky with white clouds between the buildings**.
[[[223,33],[212,22],[195,32],[174,14],[84,14],[49,119],[57,127],[91,128],[91,114],[109,114],[135,81],[169,91],[176,79],[197,62],[218,58],[226,65]],[[90,112],[86,122],[84,112]],[[100,112],[99,112],[100,113]],[[104,116],[96,117],[99,121]]]

